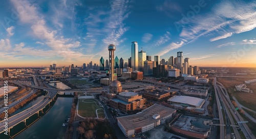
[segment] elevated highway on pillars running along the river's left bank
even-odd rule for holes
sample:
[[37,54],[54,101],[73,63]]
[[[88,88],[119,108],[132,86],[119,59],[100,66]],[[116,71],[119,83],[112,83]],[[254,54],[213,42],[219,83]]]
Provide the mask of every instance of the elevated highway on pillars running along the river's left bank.
[[[8,122],[8,128],[12,128],[13,126],[17,125],[18,123],[28,119],[31,115],[39,111],[40,109],[44,108],[57,94],[57,91],[55,92],[48,92],[46,95],[46,98],[38,102],[37,104],[33,105],[31,108],[24,110],[22,112],[19,112],[12,117],[8,118],[8,121],[1,121],[0,122],[0,133],[4,132],[4,125],[5,122]],[[47,97],[50,97],[48,99]]]

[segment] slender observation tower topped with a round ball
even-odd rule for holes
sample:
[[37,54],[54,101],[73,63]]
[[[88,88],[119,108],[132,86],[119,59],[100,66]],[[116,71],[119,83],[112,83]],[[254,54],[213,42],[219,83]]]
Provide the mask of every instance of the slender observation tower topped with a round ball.
[[109,50],[109,68],[110,68],[110,83],[114,80],[114,51],[116,50],[116,46],[114,44],[109,44],[108,46],[108,50]]

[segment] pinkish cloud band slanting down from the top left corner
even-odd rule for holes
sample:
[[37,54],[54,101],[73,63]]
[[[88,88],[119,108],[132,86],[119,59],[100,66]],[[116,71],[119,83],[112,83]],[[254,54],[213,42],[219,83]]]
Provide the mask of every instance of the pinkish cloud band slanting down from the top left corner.
[[[52,53],[55,53],[55,56],[62,57],[63,59],[69,60],[72,58],[79,58],[82,56],[79,52],[73,52],[72,49],[80,46],[79,41],[73,42],[71,38],[65,38],[58,34],[56,30],[50,29],[46,25],[46,20],[38,12],[36,5],[32,5],[29,1],[11,1],[15,8],[18,8],[20,5],[24,7],[24,10],[18,11],[19,20],[22,21],[22,24],[30,25],[32,33],[31,35],[45,41],[45,43],[52,49]],[[31,50],[32,48],[26,48]],[[25,50],[22,49],[22,50]],[[32,52],[33,53],[33,52]],[[77,53],[77,55],[72,55]]]

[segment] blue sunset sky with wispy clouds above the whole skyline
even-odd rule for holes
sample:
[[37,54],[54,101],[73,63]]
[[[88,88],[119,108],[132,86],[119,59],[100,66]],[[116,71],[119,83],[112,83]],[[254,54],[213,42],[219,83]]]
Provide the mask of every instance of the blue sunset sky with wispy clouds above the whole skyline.
[[0,67],[81,66],[131,42],[146,55],[192,66],[256,67],[256,1],[0,1]]

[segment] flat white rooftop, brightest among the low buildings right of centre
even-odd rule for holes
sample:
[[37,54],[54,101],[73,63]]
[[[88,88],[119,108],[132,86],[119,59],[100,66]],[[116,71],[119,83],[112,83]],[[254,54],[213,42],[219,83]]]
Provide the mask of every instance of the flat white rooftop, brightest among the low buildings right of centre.
[[189,104],[193,106],[200,106],[204,100],[200,98],[188,97],[188,96],[174,96],[172,98],[169,98],[168,101]]

